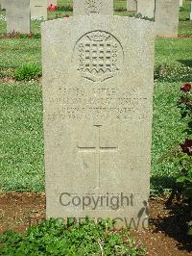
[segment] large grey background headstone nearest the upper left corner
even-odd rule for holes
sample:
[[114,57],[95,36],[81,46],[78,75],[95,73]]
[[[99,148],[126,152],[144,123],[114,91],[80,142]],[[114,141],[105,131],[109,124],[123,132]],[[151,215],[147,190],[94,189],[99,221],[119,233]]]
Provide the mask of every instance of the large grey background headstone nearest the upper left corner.
[[6,0],[7,33],[31,33],[30,0]]

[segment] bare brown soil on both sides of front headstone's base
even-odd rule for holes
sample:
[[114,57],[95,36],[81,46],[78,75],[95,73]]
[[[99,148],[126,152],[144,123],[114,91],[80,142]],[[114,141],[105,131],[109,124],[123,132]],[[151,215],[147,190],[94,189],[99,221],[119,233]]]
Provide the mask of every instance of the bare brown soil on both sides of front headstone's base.
[[[192,237],[187,236],[190,209],[180,201],[151,200],[150,228],[132,235],[147,247],[147,255],[192,255]],[[25,232],[45,219],[45,194],[0,193],[0,233],[5,230]]]

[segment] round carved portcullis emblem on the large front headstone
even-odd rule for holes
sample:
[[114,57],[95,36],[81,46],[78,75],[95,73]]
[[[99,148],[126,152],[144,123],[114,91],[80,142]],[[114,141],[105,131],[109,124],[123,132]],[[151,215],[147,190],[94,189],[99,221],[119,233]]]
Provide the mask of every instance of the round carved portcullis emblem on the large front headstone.
[[123,63],[123,49],[117,38],[104,31],[93,31],[80,38],[75,46],[78,71],[93,82],[113,77]]

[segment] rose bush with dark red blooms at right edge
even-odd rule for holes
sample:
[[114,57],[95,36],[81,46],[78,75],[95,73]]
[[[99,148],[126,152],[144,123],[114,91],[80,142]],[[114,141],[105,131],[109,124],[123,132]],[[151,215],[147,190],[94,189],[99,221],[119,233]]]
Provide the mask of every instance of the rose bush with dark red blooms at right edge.
[[[180,90],[178,107],[186,124],[183,133],[187,138],[183,143],[174,146],[166,157],[178,164],[180,171],[176,175],[176,182],[184,199],[192,207],[192,86],[187,83]],[[192,227],[189,234],[192,234]]]

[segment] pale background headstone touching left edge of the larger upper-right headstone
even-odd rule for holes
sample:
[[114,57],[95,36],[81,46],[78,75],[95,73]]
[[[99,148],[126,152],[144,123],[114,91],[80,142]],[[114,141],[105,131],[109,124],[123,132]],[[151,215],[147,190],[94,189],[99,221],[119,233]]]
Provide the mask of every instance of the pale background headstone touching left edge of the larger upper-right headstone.
[[143,17],[154,18],[155,0],[137,0],[137,13]]

